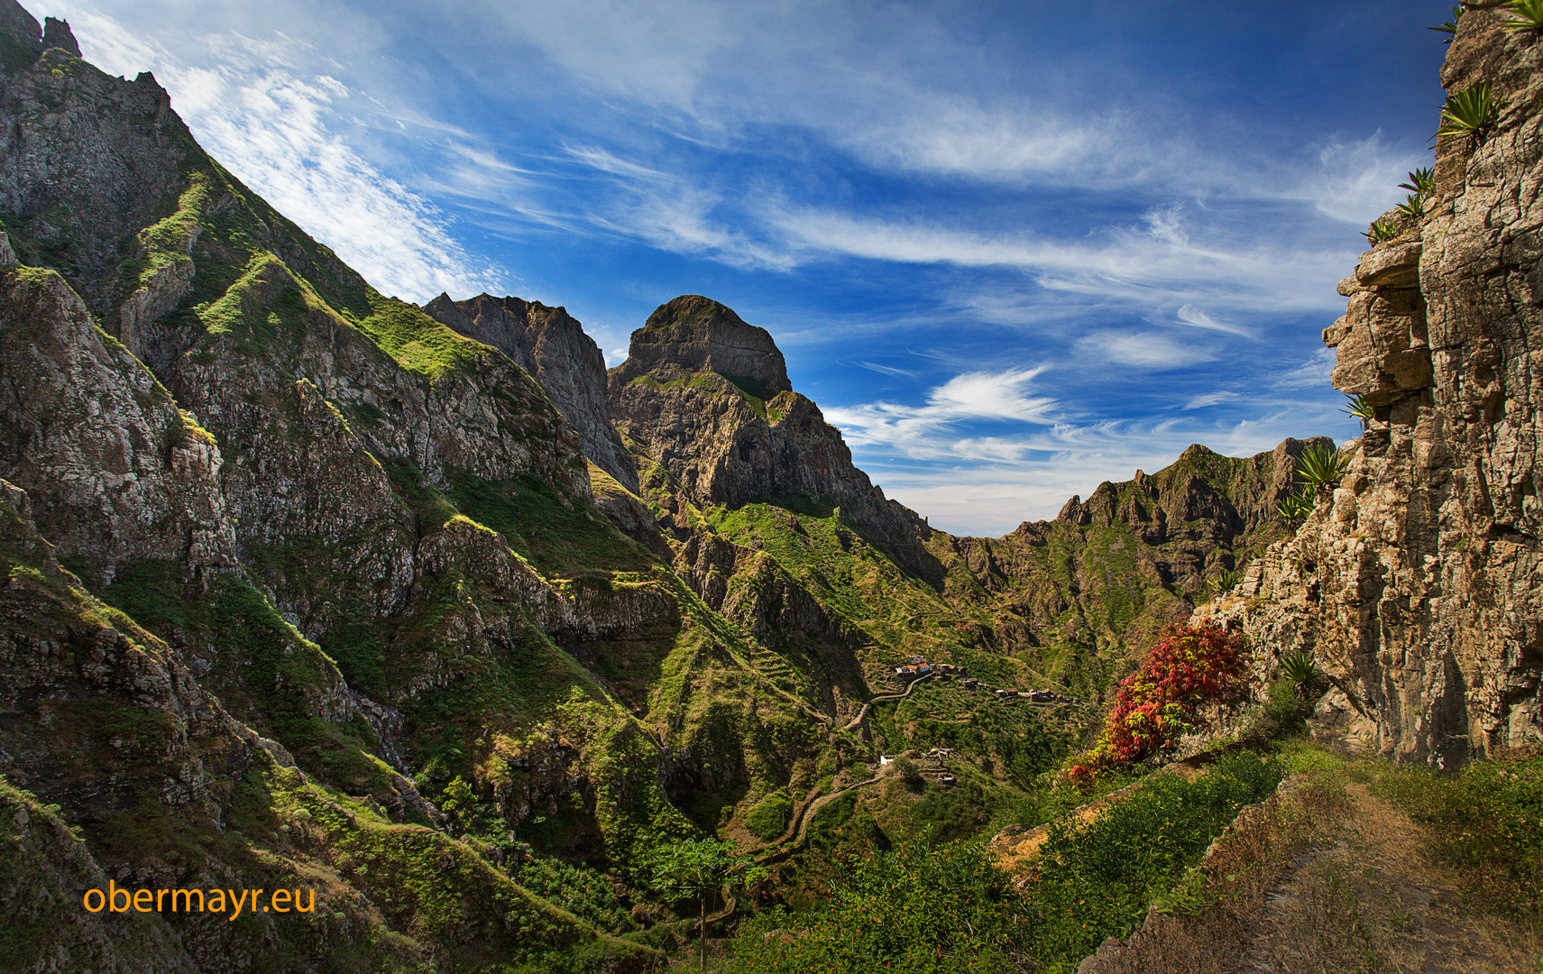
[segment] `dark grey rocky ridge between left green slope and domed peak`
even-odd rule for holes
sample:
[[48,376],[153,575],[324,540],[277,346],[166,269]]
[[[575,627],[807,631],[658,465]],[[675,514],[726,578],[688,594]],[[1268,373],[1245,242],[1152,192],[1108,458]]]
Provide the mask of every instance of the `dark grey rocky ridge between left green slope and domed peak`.
[[483,293],[466,301],[440,295],[423,310],[518,363],[579,431],[585,455],[637,492],[637,462],[611,426],[605,357],[566,309]]

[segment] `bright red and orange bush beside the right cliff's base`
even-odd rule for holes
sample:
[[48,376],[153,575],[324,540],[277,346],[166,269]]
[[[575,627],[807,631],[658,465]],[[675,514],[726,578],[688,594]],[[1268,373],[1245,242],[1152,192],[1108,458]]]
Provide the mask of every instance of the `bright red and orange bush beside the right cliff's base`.
[[1247,642],[1214,624],[1170,625],[1134,673],[1120,681],[1103,733],[1071,781],[1171,747],[1197,725],[1200,707],[1236,704],[1247,687]]

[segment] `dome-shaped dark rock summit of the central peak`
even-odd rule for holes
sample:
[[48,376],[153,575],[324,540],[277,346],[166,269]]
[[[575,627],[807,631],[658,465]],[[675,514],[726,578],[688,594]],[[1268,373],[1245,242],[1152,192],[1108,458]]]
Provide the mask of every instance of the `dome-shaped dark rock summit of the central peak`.
[[772,333],[701,295],[660,304],[633,332],[628,358],[611,375],[626,384],[639,375],[668,381],[691,372],[717,372],[762,398],[793,387]]

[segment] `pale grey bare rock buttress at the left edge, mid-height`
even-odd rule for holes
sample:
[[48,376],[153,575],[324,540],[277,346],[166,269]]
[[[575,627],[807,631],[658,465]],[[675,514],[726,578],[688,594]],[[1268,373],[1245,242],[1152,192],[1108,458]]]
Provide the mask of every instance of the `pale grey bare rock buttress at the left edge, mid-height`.
[[65,281],[0,270],[0,477],[37,495],[62,557],[97,582],[130,559],[231,568],[213,437]]

